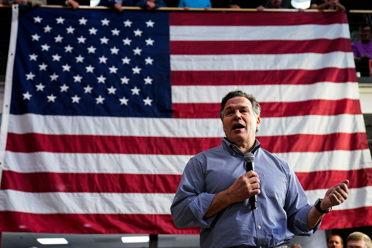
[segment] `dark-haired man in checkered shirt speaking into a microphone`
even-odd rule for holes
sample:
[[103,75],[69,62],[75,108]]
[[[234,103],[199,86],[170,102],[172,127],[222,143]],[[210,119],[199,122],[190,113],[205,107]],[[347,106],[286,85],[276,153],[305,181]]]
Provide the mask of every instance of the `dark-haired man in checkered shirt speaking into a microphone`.
[[294,235],[312,235],[331,207],[347,199],[344,180],[310,205],[288,163],[260,148],[260,112],[254,96],[230,91],[220,111],[226,137],[185,167],[170,210],[178,228],[201,226],[201,248],[289,248]]

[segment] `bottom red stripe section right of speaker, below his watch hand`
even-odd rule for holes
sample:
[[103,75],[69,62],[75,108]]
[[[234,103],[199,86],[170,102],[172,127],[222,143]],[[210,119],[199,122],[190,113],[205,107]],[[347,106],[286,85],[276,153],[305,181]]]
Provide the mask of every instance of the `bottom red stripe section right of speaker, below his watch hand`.
[[[372,207],[331,210],[322,220],[320,229],[344,229],[372,225]],[[351,232],[351,231],[350,231]]]

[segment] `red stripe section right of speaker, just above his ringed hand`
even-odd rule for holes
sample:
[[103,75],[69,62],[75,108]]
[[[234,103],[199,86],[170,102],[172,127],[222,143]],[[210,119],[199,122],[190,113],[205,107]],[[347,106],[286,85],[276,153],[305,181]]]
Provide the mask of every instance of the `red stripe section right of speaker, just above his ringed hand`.
[[347,185],[349,189],[372,186],[372,168],[349,171],[296,172],[296,175],[304,190],[329,189],[345,179],[350,181]]

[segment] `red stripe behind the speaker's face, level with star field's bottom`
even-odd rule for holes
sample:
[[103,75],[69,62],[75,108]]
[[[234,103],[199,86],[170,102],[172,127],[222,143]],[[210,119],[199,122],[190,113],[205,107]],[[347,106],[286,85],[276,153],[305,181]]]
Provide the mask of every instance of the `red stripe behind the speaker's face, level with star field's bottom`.
[[[359,100],[308,100],[303,102],[260,103],[261,117],[304,115],[361,115]],[[173,103],[174,118],[219,118],[219,103]],[[203,111],[200,111],[200,110]]]

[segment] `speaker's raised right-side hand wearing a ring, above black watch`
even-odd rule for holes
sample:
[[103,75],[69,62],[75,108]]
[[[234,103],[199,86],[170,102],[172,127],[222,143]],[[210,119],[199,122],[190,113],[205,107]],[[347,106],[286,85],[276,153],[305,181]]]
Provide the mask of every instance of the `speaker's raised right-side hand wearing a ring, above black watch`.
[[324,199],[320,203],[320,208],[327,210],[330,207],[343,203],[349,196],[349,190],[347,189],[348,183],[349,180],[344,180],[343,182],[328,189],[324,195]]

